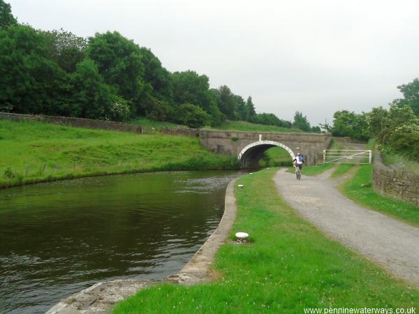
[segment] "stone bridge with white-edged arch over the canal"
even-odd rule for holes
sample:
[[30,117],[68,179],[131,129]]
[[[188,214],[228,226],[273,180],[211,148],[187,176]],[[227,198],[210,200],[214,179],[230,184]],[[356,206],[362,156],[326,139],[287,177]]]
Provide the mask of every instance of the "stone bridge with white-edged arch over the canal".
[[328,149],[330,133],[267,133],[200,130],[200,142],[216,153],[237,156],[242,167],[258,167],[263,152],[271,147],[282,147],[290,159],[300,152],[308,165],[323,163],[323,149]]

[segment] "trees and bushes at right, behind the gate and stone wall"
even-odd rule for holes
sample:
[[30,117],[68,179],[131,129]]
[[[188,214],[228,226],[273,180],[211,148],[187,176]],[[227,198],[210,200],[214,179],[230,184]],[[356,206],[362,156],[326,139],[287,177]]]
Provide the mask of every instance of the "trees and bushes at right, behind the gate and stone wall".
[[335,136],[358,140],[374,137],[379,149],[419,160],[419,80],[397,87],[404,98],[393,100],[388,109],[374,107],[370,112],[335,112],[333,125],[324,127]]

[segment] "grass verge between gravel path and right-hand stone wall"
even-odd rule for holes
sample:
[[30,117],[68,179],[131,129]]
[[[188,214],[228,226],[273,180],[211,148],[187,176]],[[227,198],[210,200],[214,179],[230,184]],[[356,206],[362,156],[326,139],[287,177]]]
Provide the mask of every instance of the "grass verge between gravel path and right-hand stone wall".
[[[363,187],[362,187],[363,186]],[[372,165],[360,165],[353,178],[341,185],[348,198],[369,209],[380,211],[419,227],[419,207],[378,195],[372,189]]]

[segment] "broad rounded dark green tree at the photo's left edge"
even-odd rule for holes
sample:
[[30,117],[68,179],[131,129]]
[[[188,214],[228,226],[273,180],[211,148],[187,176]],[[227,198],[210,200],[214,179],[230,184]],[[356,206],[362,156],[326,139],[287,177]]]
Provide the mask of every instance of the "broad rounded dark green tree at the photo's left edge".
[[45,34],[23,25],[0,31],[3,107],[22,114],[61,113],[70,89],[66,73],[51,60]]

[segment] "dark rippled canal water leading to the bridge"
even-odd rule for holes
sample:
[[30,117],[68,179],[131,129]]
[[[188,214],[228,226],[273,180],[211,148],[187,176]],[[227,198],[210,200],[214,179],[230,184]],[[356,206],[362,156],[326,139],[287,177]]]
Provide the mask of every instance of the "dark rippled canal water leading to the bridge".
[[0,313],[98,281],[161,279],[212,234],[240,172],[154,172],[0,190]]

